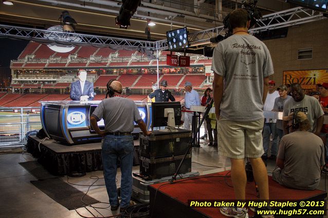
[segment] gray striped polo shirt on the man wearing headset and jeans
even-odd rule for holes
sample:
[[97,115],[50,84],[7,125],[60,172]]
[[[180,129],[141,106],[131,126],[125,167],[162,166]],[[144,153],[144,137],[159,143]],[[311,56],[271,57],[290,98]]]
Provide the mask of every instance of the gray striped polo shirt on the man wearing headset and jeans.
[[141,119],[134,101],[118,96],[104,99],[92,115],[97,117],[97,121],[104,119],[105,130],[108,132],[132,132],[133,121]]

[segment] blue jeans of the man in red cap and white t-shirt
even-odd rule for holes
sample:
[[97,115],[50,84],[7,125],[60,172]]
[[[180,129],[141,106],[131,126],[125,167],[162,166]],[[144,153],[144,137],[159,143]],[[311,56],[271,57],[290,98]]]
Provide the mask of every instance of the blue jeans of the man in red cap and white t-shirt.
[[278,134],[276,123],[265,123],[263,127],[263,149],[264,153],[268,153],[270,134],[272,133],[271,155],[277,156],[278,153]]

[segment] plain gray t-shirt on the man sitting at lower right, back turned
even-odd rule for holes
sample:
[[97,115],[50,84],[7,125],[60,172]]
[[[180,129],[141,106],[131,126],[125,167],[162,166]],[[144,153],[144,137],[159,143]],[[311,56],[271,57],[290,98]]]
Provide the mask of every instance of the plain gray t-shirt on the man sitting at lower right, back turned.
[[324,146],[319,136],[296,131],[281,138],[278,158],[284,160],[282,183],[298,189],[316,189],[320,167],[324,165]]

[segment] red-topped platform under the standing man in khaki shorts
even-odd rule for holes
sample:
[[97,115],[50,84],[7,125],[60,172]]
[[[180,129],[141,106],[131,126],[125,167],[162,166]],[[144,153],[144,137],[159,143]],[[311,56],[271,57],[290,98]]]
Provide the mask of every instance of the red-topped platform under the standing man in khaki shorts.
[[[179,180],[173,184],[165,182],[148,186],[151,218],[226,218],[227,216],[221,214],[218,207],[191,208],[188,207],[188,200],[234,200],[231,178],[230,175],[226,177],[227,173],[228,171],[225,171]],[[327,193],[321,190],[297,190],[283,187],[273,181],[271,176],[269,176],[269,192],[271,200],[294,200],[293,202],[295,200],[324,200],[327,196]],[[247,183],[246,199],[258,199],[254,182]],[[254,213],[248,210],[248,214],[251,217]],[[275,217],[287,216],[275,215]],[[307,217],[323,217],[323,215]]]

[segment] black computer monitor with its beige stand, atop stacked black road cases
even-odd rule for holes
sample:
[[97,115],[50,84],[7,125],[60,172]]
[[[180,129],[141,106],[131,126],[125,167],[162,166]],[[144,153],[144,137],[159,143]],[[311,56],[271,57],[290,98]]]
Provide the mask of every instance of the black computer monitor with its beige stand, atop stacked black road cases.
[[153,102],[152,127],[179,126],[181,123],[180,102]]

